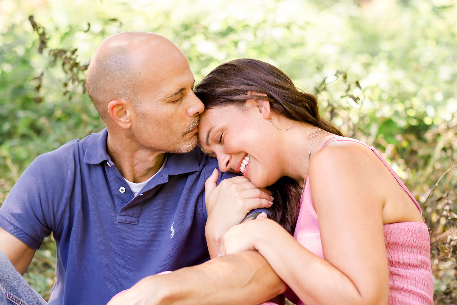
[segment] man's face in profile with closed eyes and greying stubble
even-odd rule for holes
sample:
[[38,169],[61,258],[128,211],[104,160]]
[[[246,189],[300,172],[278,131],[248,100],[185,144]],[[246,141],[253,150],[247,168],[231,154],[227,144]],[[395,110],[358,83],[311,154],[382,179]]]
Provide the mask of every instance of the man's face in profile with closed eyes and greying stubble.
[[204,106],[192,91],[194,75],[184,55],[166,62],[149,75],[147,67],[140,69],[145,75],[138,84],[131,130],[144,147],[186,153],[197,145],[198,114]]

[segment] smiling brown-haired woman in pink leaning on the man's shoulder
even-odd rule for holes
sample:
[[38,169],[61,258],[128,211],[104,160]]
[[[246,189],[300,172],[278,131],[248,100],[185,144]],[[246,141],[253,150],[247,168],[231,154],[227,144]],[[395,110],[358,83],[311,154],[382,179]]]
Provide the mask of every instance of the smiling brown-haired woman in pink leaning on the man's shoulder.
[[[233,226],[224,254],[258,250],[298,304],[433,304],[420,207],[373,147],[342,137],[315,96],[258,60],[221,64],[194,92],[205,104],[199,145],[219,169],[256,187],[276,183],[277,223],[262,215]],[[223,215],[211,214],[218,209],[208,207],[207,226],[223,227]],[[215,231],[207,230],[212,257],[222,249]]]

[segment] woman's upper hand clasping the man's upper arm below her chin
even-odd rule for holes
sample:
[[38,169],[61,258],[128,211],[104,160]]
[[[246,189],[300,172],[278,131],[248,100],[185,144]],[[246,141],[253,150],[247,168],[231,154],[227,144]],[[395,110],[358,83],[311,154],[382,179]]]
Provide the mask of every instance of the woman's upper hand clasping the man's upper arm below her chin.
[[216,186],[219,172],[213,174],[205,183],[205,202],[208,219],[205,234],[210,257],[223,253],[224,234],[238,225],[252,209],[271,207],[273,197],[266,188],[256,187],[243,176],[225,179]]

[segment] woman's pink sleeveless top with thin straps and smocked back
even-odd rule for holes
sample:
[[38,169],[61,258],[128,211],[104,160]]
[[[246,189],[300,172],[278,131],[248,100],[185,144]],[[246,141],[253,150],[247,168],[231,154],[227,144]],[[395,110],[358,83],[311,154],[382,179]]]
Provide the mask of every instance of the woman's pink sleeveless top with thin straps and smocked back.
[[[374,147],[355,139],[331,136],[324,141],[320,148],[329,139],[336,137],[340,139],[334,141],[352,141],[369,147],[383,161],[422,213],[416,199]],[[293,237],[309,251],[320,258],[324,258],[318,217],[314,210],[308,179],[300,203],[300,213]],[[433,275],[430,264],[430,235],[427,225],[419,222],[399,222],[383,225],[383,227],[389,264],[388,304],[433,305]],[[298,305],[304,304],[298,300]]]

